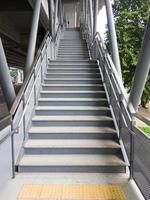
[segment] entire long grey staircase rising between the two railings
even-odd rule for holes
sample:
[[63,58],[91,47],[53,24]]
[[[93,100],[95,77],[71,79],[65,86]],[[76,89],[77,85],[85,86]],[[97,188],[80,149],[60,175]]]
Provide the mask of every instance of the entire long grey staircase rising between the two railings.
[[19,172],[123,173],[126,164],[96,61],[67,29],[51,61]]

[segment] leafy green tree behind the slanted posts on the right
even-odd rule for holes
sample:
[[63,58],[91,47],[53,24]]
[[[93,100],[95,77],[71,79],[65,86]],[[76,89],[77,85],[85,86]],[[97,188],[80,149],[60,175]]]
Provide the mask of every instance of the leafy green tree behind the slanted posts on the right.
[[[113,11],[119,44],[124,85],[131,89],[135,68],[150,14],[150,0],[115,0]],[[142,105],[150,100],[150,76],[142,96]]]

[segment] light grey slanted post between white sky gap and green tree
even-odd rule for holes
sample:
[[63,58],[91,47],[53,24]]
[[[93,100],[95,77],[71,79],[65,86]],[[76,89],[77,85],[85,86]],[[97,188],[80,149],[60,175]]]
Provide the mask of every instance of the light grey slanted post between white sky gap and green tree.
[[107,13],[107,20],[108,20],[108,29],[109,29],[109,35],[110,35],[110,41],[111,41],[112,58],[120,77],[122,77],[119,50],[118,50],[118,44],[117,44],[117,36],[116,36],[114,17],[113,17],[113,11],[112,11],[110,0],[105,0],[105,4],[106,4],[106,13]]

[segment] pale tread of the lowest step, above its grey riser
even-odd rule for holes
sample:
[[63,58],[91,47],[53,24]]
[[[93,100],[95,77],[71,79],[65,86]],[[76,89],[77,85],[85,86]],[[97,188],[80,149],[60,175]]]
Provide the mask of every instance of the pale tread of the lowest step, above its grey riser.
[[25,155],[20,166],[126,166],[116,155]]

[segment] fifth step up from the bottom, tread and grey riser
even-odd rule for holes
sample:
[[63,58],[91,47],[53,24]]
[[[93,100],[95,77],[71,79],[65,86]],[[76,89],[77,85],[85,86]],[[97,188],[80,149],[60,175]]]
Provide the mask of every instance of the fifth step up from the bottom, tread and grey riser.
[[102,115],[111,116],[108,107],[98,106],[37,106],[36,115]]

